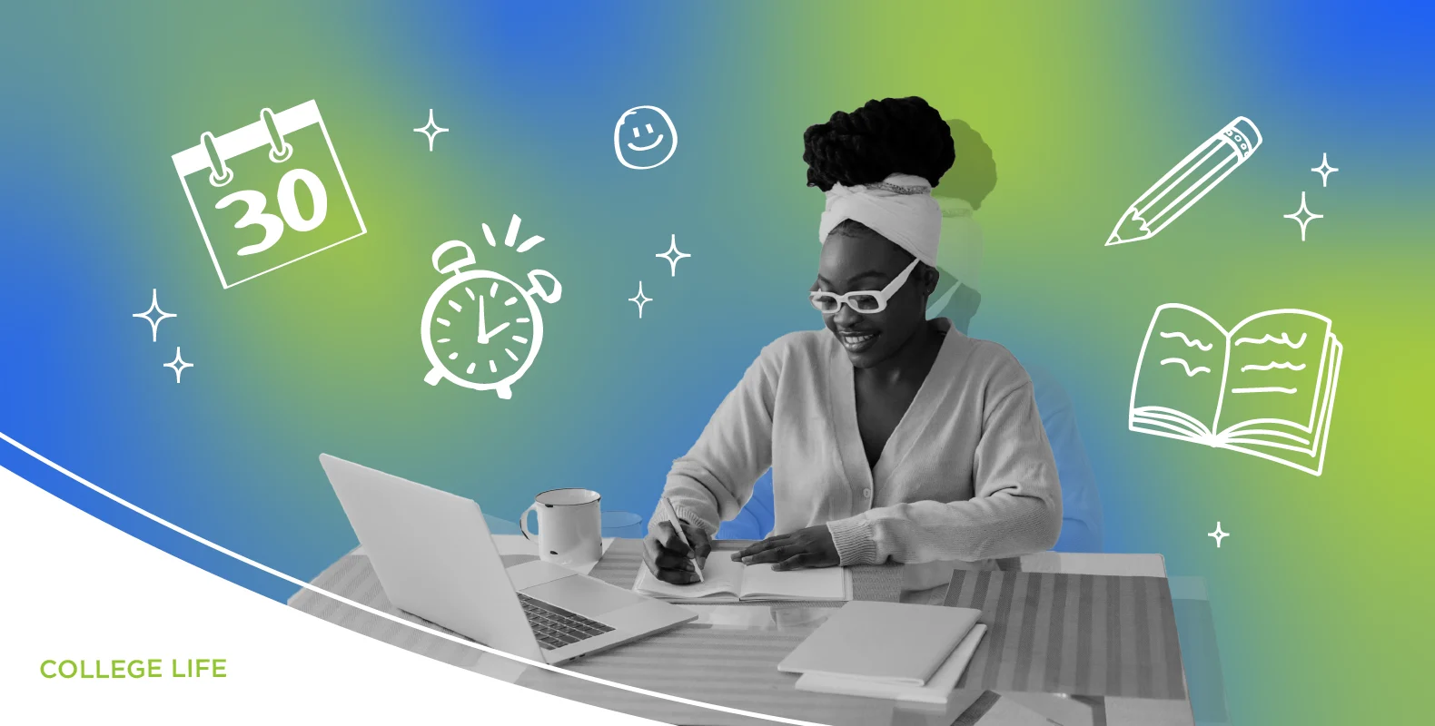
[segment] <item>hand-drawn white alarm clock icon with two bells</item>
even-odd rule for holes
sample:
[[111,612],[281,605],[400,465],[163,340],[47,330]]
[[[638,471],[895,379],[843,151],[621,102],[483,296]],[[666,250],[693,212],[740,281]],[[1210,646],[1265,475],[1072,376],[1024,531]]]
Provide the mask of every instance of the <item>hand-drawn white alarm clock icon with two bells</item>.
[[[464,257],[441,265],[439,260],[453,250],[462,250]],[[436,386],[448,379],[511,399],[514,382],[528,372],[542,346],[538,300],[557,303],[563,286],[552,274],[534,270],[528,273],[532,287],[524,290],[498,273],[472,265],[474,248],[459,240],[433,251],[433,268],[452,277],[433,290],[423,307],[423,353],[433,364],[423,382]],[[548,278],[552,290],[544,290],[541,278]]]

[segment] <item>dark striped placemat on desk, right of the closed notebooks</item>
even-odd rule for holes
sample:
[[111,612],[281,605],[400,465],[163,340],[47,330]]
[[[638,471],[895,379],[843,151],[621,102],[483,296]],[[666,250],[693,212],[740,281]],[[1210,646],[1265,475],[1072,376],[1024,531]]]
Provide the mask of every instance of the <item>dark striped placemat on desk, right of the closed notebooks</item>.
[[1165,578],[959,570],[946,604],[989,628],[959,689],[1185,699]]

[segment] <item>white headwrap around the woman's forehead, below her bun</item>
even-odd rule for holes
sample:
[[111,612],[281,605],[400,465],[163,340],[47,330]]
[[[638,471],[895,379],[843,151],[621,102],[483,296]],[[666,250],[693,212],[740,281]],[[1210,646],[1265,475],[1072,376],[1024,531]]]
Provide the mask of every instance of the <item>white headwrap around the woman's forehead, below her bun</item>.
[[827,242],[827,235],[847,220],[862,222],[917,260],[936,267],[941,207],[931,198],[927,179],[893,174],[878,184],[834,184],[827,192],[818,241]]

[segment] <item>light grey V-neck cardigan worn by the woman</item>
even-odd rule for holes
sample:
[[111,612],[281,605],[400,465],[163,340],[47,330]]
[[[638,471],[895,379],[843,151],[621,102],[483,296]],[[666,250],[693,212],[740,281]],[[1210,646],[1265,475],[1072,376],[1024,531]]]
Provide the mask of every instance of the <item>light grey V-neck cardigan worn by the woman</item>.
[[825,524],[842,565],[1049,550],[1062,495],[1032,379],[1004,347],[936,323],[941,350],[875,468],[835,337],[791,333],[762,349],[673,462],[663,492],[677,515],[715,532],[772,466],[773,534]]

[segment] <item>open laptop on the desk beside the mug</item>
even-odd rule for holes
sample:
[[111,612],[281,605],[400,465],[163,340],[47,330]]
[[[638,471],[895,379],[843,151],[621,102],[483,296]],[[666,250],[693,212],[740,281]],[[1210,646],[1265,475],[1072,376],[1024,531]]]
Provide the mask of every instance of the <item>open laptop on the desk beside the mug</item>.
[[319,462],[389,601],[485,646],[558,664],[697,617],[542,560],[505,568],[478,502]]

